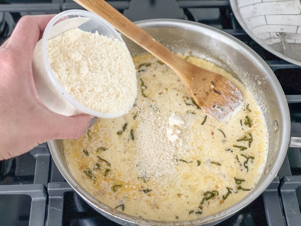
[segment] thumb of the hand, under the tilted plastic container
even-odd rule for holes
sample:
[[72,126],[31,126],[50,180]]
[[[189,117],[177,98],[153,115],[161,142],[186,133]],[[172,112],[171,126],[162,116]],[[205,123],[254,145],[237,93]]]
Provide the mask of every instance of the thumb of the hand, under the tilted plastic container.
[[52,112],[51,117],[52,128],[49,131],[50,139],[75,139],[91,126],[93,126],[98,118],[92,115],[72,115],[64,116]]

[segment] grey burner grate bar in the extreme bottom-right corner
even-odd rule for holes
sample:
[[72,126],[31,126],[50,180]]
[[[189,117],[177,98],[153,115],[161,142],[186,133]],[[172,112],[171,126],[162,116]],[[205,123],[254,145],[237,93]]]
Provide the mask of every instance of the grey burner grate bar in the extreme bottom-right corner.
[[301,186],[301,175],[285,176],[280,185],[280,193],[287,226],[300,225],[301,214],[296,189]]

